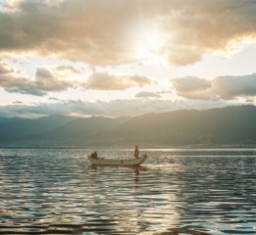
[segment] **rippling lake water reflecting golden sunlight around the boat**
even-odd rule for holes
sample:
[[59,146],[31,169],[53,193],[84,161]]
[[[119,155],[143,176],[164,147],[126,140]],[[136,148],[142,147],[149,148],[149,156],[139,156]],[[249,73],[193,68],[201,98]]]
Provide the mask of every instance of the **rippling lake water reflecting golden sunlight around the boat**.
[[0,149],[0,234],[256,234],[256,149],[89,152]]

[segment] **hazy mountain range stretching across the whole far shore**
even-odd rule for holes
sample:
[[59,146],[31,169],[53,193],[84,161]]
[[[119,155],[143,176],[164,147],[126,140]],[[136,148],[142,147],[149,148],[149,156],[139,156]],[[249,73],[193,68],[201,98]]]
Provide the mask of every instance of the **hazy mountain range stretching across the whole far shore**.
[[135,118],[0,117],[0,147],[255,147],[256,107],[181,110]]

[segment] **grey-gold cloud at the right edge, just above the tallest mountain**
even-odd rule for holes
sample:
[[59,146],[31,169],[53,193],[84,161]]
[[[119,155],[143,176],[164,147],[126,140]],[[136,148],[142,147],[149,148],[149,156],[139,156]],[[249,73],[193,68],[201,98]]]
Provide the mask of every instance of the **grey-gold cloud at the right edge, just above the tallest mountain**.
[[171,79],[179,96],[201,100],[235,100],[256,96],[256,73],[218,76],[213,79],[182,77]]

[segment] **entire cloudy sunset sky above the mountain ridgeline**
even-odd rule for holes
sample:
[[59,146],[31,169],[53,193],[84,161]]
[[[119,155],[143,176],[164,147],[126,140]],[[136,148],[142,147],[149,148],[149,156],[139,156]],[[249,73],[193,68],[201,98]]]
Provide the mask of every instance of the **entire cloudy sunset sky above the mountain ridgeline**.
[[256,105],[254,0],[0,0],[0,116]]

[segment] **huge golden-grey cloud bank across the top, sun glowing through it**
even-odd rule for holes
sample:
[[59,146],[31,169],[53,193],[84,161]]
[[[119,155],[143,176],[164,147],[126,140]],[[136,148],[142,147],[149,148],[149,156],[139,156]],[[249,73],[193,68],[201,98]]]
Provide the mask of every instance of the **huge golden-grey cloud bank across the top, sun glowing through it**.
[[[6,8],[16,11],[0,11],[2,54],[105,66],[136,62],[138,49],[185,66],[256,41],[255,1],[13,0]],[[143,40],[152,35],[160,38],[158,47]]]

